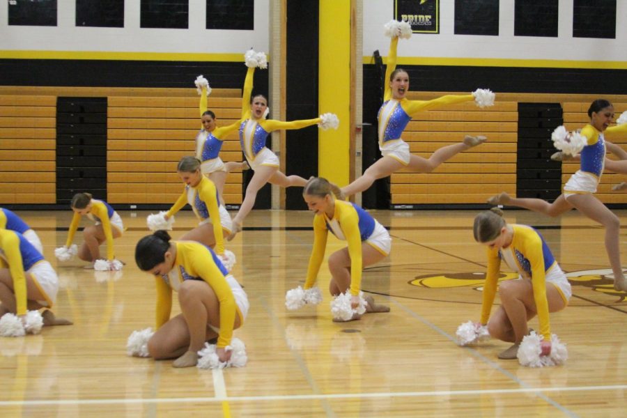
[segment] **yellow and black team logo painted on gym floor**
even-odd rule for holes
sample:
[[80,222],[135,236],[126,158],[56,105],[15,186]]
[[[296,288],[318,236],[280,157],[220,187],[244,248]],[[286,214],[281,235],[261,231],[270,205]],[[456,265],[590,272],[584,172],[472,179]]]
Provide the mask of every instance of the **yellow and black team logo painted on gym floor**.
[[[516,279],[516,273],[499,273],[498,281]],[[582,286],[590,288],[592,291],[610,296],[618,296],[618,302],[624,302],[627,293],[614,290],[614,276],[610,269],[578,270],[566,273],[571,286]],[[424,288],[460,288],[470,287],[476,291],[483,289],[483,281],[486,279],[485,273],[451,273],[451,274],[424,274],[415,277],[409,283],[412,286]],[[574,289],[573,289],[574,290]]]

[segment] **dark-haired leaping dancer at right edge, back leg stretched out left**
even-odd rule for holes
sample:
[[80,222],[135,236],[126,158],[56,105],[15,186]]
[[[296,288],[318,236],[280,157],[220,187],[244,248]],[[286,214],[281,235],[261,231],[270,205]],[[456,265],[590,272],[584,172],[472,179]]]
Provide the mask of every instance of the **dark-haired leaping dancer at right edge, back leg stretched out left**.
[[[564,185],[564,192],[553,203],[548,203],[542,199],[515,198],[506,192],[491,197],[488,199],[488,203],[519,206],[551,217],[562,215],[562,213],[576,208],[583,215],[602,224],[605,227],[605,250],[614,273],[614,289],[627,291],[627,279],[621,268],[619,218],[594,196],[603,174],[605,161],[603,132],[607,130],[614,118],[614,107],[607,100],[594,100],[588,109],[588,116],[590,123],[583,127],[580,134],[568,134],[569,139],[567,140],[568,143],[572,143],[570,138],[580,138],[583,141],[582,144],[585,144],[580,151],[580,169],[571,176]],[[577,150],[575,150],[576,152]]]

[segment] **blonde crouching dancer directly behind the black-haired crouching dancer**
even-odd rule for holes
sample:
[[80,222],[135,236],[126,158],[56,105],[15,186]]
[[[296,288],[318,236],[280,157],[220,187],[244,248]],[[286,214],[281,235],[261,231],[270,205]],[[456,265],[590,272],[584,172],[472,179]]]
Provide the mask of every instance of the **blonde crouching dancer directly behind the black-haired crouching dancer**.
[[189,203],[200,222],[180,240],[201,242],[214,248],[219,256],[224,256],[224,236],[231,232],[231,217],[219,204],[215,185],[203,176],[201,162],[196,157],[183,157],[178,162],[177,171],[186,186],[164,218],[168,220]]

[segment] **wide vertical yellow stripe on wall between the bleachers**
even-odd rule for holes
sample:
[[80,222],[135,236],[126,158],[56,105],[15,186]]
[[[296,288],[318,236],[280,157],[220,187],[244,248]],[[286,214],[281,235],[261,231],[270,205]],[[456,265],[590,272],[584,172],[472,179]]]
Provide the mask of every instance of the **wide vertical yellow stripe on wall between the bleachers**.
[[350,1],[320,0],[318,102],[339,118],[337,130],[320,130],[318,173],[340,187],[349,181]]

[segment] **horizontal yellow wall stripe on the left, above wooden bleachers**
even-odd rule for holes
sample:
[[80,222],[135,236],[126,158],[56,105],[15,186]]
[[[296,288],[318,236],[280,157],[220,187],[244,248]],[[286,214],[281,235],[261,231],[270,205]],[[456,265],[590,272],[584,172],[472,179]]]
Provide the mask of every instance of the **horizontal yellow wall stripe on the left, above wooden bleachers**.
[[[244,61],[244,54],[98,51],[0,51],[0,59],[100,59],[111,61]],[[268,61],[270,56],[268,55]]]

